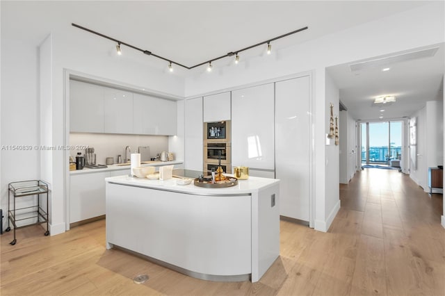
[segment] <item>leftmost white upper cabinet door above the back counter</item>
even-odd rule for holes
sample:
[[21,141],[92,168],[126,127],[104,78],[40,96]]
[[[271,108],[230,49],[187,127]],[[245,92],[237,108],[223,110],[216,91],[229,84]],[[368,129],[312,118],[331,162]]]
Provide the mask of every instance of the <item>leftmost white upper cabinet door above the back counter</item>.
[[70,80],[70,131],[104,132],[104,88]]

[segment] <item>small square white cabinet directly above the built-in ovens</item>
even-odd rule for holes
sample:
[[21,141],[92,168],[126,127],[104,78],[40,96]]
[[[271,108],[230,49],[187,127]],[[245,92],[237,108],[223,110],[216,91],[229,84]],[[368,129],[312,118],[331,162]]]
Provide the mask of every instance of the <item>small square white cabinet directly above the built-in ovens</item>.
[[204,122],[230,120],[230,92],[204,97]]

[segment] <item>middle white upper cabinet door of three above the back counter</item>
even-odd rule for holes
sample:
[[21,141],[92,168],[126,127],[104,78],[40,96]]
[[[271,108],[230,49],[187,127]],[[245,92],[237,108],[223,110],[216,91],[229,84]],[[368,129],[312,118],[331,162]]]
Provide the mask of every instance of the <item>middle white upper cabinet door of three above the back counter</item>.
[[104,132],[133,133],[133,94],[104,88]]

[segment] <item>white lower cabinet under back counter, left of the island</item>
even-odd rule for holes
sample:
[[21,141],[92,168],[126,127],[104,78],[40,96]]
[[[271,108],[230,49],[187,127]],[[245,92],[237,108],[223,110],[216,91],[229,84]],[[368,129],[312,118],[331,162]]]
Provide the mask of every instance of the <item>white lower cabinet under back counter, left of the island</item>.
[[110,172],[70,176],[70,223],[105,215],[105,178]]

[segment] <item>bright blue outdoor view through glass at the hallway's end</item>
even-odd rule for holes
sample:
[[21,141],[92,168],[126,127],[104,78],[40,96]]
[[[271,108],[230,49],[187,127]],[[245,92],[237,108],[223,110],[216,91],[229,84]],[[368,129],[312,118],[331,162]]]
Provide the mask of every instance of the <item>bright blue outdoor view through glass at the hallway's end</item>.
[[[389,164],[402,155],[403,122],[362,123],[362,163]],[[366,131],[369,130],[369,151]]]

